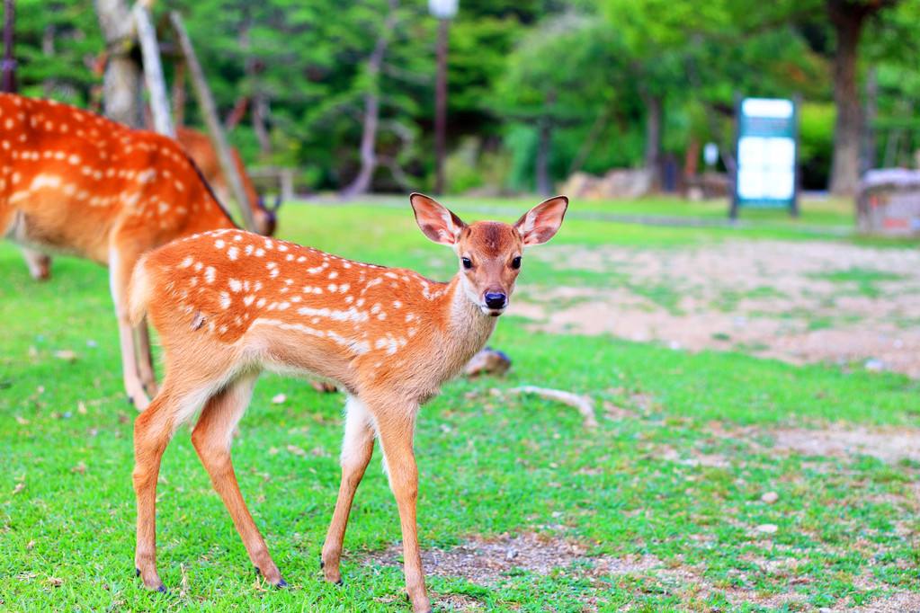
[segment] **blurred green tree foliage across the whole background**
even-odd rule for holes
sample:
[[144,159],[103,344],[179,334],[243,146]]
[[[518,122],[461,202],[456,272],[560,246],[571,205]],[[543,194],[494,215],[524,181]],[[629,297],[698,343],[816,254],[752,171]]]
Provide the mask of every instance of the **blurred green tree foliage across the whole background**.
[[[852,10],[864,4],[461,0],[449,51],[451,167],[463,177],[454,187],[476,187],[479,176],[482,183],[532,189],[541,147],[548,147],[556,180],[576,169],[603,173],[683,160],[695,143],[730,142],[739,95],[805,100],[802,120],[816,123],[802,131],[822,136],[802,153],[810,184],[820,185],[829,171],[828,113],[834,116],[834,3]],[[877,157],[887,148],[906,163],[920,146],[920,0],[883,4],[864,26],[857,78],[864,83],[872,68],[878,80]],[[374,186],[426,188],[433,177],[436,32],[426,5],[399,3],[378,76],[368,74],[367,59],[386,0],[165,0],[155,16],[175,9],[186,17],[224,115],[250,103],[247,120],[232,133],[247,159],[296,165],[316,189],[347,185],[359,167],[362,105],[373,89],[380,99],[376,151],[387,161]],[[94,67],[104,51],[91,0],[17,2],[24,93],[92,105]],[[256,100],[264,112],[253,121]],[[197,119],[190,105],[187,120]],[[648,129],[653,120],[658,133]],[[650,147],[658,151],[650,155]],[[496,176],[497,168],[505,176]]]

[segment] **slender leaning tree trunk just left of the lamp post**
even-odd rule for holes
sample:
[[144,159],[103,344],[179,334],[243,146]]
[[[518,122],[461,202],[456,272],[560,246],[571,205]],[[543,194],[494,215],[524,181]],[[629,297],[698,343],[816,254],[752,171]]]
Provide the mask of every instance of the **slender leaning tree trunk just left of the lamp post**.
[[389,13],[386,16],[380,35],[374,45],[374,51],[367,60],[368,89],[364,94],[364,119],[361,135],[361,170],[354,177],[351,185],[342,190],[343,198],[354,198],[366,194],[371,188],[371,179],[377,168],[377,128],[380,125],[380,70],[386,55],[386,46],[397,25],[398,0],[390,0]]

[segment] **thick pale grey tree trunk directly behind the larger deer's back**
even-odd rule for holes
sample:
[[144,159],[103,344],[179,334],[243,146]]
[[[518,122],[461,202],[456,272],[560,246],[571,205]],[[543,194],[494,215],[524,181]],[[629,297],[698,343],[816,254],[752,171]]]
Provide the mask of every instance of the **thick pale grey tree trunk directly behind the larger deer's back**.
[[104,109],[109,119],[134,128],[144,125],[141,67],[132,58],[131,10],[124,0],[95,0],[99,25],[109,48],[102,77]]

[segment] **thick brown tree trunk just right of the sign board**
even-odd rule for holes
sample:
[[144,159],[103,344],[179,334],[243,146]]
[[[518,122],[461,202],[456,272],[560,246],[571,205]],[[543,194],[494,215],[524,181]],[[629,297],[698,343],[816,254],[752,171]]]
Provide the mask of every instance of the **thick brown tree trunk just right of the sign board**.
[[859,181],[859,141],[862,136],[862,108],[857,86],[857,50],[866,12],[840,0],[829,0],[828,10],[837,35],[834,53],[834,158],[831,163],[831,193],[851,196]]

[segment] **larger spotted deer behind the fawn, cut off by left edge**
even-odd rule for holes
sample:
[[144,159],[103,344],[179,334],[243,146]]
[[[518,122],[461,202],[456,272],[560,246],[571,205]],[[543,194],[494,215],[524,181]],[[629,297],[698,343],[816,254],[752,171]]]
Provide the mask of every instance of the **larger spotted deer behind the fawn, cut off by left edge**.
[[128,321],[132,267],[234,222],[178,142],[51,100],[0,94],[0,166],[0,235],[25,245],[33,275],[48,275],[48,251],[109,266],[124,387],[143,409],[155,378],[147,326]]

